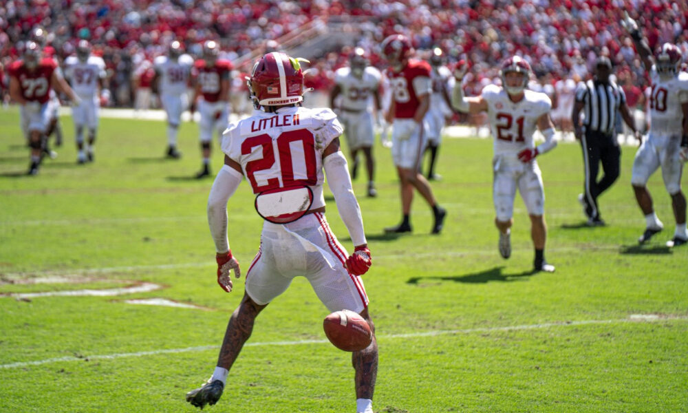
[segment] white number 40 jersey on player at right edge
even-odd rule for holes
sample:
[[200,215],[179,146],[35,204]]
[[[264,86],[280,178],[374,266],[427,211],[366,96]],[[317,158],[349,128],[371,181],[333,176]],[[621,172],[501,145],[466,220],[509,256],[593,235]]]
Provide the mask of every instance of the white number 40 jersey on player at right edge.
[[681,104],[688,102],[688,73],[679,72],[662,79],[652,65],[649,72],[652,89],[649,96],[650,132],[660,135],[680,135],[683,112]]

